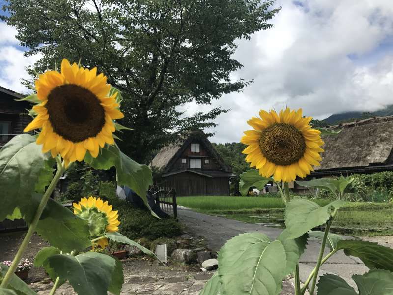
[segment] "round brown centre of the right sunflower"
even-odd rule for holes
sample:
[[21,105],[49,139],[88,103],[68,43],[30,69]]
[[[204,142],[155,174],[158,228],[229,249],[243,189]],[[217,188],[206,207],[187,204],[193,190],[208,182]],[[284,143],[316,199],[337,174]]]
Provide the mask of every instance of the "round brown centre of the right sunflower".
[[263,155],[276,165],[290,165],[303,157],[306,143],[302,132],[289,124],[267,127],[259,139]]

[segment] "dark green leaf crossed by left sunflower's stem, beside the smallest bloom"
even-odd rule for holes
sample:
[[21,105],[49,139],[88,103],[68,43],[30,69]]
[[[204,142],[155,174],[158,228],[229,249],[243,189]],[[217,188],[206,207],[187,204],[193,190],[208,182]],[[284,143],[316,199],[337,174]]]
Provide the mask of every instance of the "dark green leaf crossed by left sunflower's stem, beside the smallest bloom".
[[[31,223],[41,198],[41,194],[35,193],[31,204],[21,208],[28,223]],[[48,200],[36,231],[63,252],[80,251],[91,246],[88,222],[53,199]]]

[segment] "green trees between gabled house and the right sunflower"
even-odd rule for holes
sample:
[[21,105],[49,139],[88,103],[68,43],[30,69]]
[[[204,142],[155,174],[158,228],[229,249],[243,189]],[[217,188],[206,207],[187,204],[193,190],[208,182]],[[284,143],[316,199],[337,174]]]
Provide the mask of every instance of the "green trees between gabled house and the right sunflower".
[[231,181],[231,193],[235,196],[240,196],[239,181],[240,174],[250,168],[246,162],[246,155],[242,151],[247,147],[242,143],[225,143],[216,144],[212,143],[213,147],[217,150],[220,156],[224,159],[225,163],[232,167],[232,172],[235,177]]

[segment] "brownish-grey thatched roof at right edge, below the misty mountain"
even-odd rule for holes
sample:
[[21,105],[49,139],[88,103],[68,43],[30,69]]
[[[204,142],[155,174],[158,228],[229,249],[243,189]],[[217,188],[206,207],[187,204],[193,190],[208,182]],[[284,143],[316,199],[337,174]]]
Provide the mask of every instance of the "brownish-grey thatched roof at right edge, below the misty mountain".
[[392,162],[393,116],[337,125],[338,135],[324,136],[318,170],[386,165]]

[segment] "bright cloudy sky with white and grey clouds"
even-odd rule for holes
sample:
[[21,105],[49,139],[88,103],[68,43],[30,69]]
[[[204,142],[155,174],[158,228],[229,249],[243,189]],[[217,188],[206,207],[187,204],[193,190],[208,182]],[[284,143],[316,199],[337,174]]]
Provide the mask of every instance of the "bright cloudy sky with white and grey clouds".
[[[254,83],[213,104],[231,109],[217,118],[213,141],[239,141],[259,109],[303,108],[323,119],[393,104],[392,0],[278,0],[277,6],[273,29],[238,42],[234,58],[244,67],[233,79]],[[14,28],[0,22],[0,32],[0,86],[26,91],[24,67],[39,57],[23,57]]]

